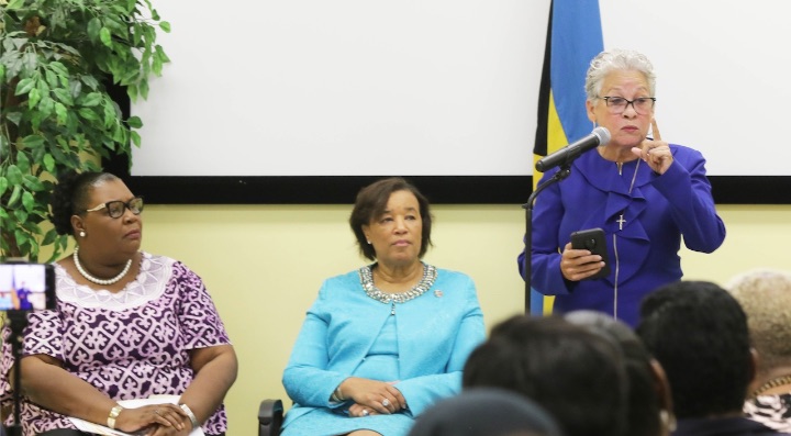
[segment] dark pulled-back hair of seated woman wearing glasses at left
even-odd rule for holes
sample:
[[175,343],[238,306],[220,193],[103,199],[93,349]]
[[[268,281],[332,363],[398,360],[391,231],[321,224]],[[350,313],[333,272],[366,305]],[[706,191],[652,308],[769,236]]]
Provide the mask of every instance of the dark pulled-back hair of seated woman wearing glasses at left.
[[59,235],[74,235],[71,215],[85,213],[90,200],[90,191],[100,182],[118,180],[110,172],[68,170],[58,175],[58,182],[49,195],[49,221]]

